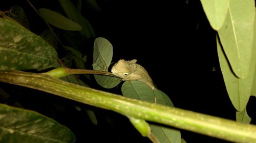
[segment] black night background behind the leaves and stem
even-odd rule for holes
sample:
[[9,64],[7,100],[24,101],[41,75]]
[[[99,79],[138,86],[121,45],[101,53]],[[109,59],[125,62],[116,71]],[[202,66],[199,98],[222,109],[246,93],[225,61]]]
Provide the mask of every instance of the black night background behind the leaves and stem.
[[[113,62],[137,59],[176,107],[236,120],[236,109],[226,93],[219,68],[216,32],[210,27],[200,1],[96,2],[101,12],[85,6],[82,14],[91,22],[96,37],[104,37],[112,43]],[[61,11],[57,1],[31,3],[36,9]],[[0,10],[9,10],[14,4],[24,8],[32,32],[39,35],[47,28],[26,1],[2,3]],[[83,54],[92,51],[93,40],[82,43]],[[77,137],[76,142],[150,142],[140,136],[125,117],[112,111],[15,85],[1,83],[1,86],[9,88],[8,94],[24,103],[25,108],[69,127]],[[255,102],[251,97],[247,109],[252,124],[255,124],[252,109]],[[94,109],[98,125],[93,125],[84,111],[77,111],[74,104]],[[187,142],[227,142],[184,130],[181,135]]]

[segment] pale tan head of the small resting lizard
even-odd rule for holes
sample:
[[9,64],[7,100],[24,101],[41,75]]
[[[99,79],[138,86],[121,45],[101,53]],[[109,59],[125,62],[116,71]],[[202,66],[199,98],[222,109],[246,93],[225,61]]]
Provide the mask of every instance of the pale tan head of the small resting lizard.
[[121,78],[128,77],[131,74],[131,67],[128,61],[119,60],[111,69],[111,72]]

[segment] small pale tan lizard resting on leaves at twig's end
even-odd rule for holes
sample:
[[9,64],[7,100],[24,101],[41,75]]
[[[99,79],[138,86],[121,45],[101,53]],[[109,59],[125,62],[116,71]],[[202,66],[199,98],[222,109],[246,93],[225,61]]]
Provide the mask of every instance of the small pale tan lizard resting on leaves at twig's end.
[[139,80],[145,82],[152,90],[155,89],[150,75],[139,64],[136,64],[137,60],[125,61],[119,60],[111,69],[111,72],[122,78],[122,80]]

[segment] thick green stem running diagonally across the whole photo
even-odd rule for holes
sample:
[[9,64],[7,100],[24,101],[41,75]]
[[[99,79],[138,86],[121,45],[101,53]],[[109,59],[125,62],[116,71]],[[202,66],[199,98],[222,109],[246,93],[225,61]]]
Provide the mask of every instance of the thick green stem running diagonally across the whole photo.
[[122,115],[157,122],[234,142],[256,142],[256,126],[203,115],[184,109],[125,98],[81,87],[45,74],[0,71],[0,81],[45,91]]

